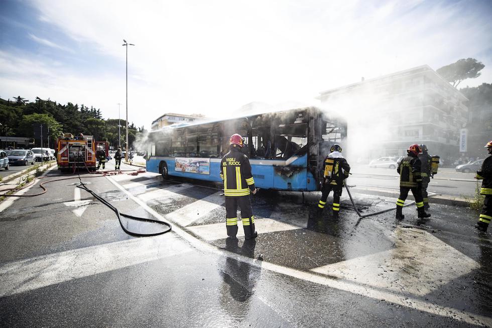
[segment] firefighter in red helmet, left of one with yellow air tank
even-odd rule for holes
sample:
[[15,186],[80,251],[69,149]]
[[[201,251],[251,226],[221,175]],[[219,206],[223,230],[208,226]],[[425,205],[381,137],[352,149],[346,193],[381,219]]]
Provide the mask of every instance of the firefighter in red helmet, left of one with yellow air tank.
[[397,171],[400,174],[400,197],[396,202],[396,218],[403,220],[405,215],[402,214],[403,204],[407,199],[408,192],[412,190],[417,205],[418,217],[430,217],[425,212],[424,202],[422,199],[422,176],[420,170],[422,164],[419,159],[419,153],[422,151],[419,145],[413,144],[408,150],[408,156],[404,157],[399,163]]

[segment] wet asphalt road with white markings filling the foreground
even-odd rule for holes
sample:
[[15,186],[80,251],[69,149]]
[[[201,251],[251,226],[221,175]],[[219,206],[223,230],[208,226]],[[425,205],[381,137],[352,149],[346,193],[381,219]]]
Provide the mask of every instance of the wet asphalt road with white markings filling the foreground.
[[[70,177],[57,173],[44,180]],[[173,231],[125,234],[108,207],[77,191],[80,181]],[[264,190],[252,197],[260,236],[244,241],[239,224],[231,242],[213,185],[144,173],[46,186],[0,203],[0,326],[492,325],[491,239],[466,208],[435,205],[419,221],[412,205],[403,222],[393,211],[360,220],[343,194],[335,220],[329,206],[317,212],[319,192],[303,202]],[[364,213],[394,207],[395,199],[354,197]]]

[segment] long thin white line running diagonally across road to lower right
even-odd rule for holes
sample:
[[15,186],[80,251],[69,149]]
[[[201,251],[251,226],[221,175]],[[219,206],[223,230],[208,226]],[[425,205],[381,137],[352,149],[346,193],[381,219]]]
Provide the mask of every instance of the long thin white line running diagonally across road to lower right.
[[[152,214],[157,220],[165,222],[165,218],[159,214],[157,211],[149,207],[145,202],[135,197],[128,190],[119,185],[116,181],[112,180],[111,177],[106,177],[112,184],[114,184],[118,189],[122,192],[126,193],[130,198],[132,198],[137,204],[142,206],[147,212]],[[492,326],[492,318],[486,317],[483,315],[478,315],[475,313],[470,313],[462,310],[458,310],[448,306],[441,306],[438,304],[434,304],[431,302],[423,301],[417,298],[407,297],[405,295],[396,294],[393,292],[386,292],[376,288],[372,288],[371,286],[356,284],[350,281],[340,280],[339,278],[332,279],[330,277],[325,277],[318,275],[316,273],[305,272],[301,270],[296,270],[292,268],[287,268],[281,265],[259,261],[257,259],[252,259],[247,256],[235,254],[232,252],[228,252],[225,250],[220,250],[215,246],[208,244],[207,242],[201,241],[185,230],[173,226],[173,233],[177,234],[191,245],[196,247],[197,249],[202,249],[204,251],[209,251],[211,253],[217,254],[219,256],[227,256],[231,259],[235,259],[237,261],[241,261],[243,263],[247,263],[253,265],[258,268],[270,270],[273,272],[277,272],[283,275],[287,275],[293,278],[302,279],[305,281],[309,281],[315,284],[324,285],[330,288],[335,288],[338,290],[347,291],[353,294],[361,295],[364,297],[371,297],[377,300],[385,300],[386,302],[395,303],[398,305],[402,305],[405,307],[417,309],[422,312],[436,314],[440,316],[449,317],[451,319],[457,321],[463,321],[469,324],[479,324],[484,326]]]

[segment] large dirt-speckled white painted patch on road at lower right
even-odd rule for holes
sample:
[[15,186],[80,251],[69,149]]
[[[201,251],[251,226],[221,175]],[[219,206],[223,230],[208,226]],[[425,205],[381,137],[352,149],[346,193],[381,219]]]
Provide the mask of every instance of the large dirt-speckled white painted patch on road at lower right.
[[480,265],[432,236],[415,228],[397,228],[395,248],[311,269],[397,293],[424,296]]

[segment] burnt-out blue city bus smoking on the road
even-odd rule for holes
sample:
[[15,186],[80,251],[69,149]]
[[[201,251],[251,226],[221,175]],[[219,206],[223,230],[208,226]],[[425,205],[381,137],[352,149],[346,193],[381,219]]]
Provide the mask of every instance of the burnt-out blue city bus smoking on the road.
[[319,190],[323,160],[346,131],[344,121],[316,107],[171,125],[149,133],[147,171],[221,183],[221,158],[229,151],[229,137],[238,133],[257,187]]

